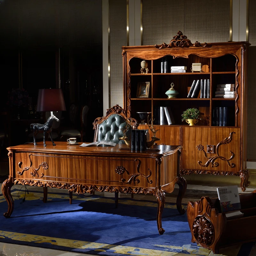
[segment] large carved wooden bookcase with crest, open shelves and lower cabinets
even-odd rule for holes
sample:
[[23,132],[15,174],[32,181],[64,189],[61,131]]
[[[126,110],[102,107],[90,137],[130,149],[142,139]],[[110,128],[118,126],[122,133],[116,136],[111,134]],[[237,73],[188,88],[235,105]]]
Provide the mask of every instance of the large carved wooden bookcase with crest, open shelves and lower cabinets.
[[[175,124],[156,125],[159,144],[181,145],[180,173],[235,175],[240,187],[248,186],[246,169],[247,132],[247,55],[248,42],[192,44],[179,31],[169,44],[123,46],[124,108],[128,117],[139,119],[137,112],[152,112],[155,107],[170,107]],[[166,58],[169,73],[161,73]],[[141,61],[148,62],[141,73]],[[202,72],[192,72],[192,63],[201,63]],[[186,73],[170,73],[170,66],[186,66]],[[146,72],[143,70],[143,72]],[[210,79],[210,98],[187,98],[193,80]],[[150,82],[148,98],[137,98],[137,86]],[[168,99],[170,85],[179,92]],[[215,98],[217,84],[235,84],[234,99]],[[228,107],[228,126],[212,126],[212,110]],[[187,108],[198,108],[202,120],[195,126],[181,121]],[[139,129],[147,129],[140,125]]]

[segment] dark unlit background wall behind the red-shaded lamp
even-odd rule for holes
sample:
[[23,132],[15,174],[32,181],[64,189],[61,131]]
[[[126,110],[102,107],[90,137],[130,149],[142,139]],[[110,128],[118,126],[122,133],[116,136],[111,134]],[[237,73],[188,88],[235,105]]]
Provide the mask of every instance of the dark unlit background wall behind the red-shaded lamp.
[[[92,122],[103,115],[101,6],[101,0],[1,0],[1,108],[11,110],[12,119],[12,89],[25,90],[36,105],[38,89],[61,88],[64,118],[71,103],[92,110],[93,140]],[[28,118],[25,108],[21,118]]]

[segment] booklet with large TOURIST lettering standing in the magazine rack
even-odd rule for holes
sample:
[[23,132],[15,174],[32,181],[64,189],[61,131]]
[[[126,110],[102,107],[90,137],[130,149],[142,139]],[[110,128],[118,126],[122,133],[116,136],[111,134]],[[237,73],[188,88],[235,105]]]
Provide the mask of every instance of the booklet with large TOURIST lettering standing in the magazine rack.
[[240,198],[237,186],[217,188],[222,212],[231,212],[241,209]]

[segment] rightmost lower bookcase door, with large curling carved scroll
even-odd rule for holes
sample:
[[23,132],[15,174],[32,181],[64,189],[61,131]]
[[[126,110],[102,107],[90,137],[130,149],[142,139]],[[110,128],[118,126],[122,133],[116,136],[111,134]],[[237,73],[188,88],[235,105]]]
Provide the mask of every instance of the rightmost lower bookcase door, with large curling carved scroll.
[[216,156],[212,162],[218,163],[216,167],[211,163],[213,171],[240,171],[239,142],[240,128],[211,128],[211,145],[215,145],[216,153],[209,155]]

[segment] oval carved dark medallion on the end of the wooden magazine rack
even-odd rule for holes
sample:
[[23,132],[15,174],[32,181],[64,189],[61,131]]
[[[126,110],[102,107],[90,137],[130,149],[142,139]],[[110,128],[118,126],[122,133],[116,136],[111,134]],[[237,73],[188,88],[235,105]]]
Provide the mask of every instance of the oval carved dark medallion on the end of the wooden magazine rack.
[[214,229],[210,220],[204,215],[197,216],[193,222],[193,235],[199,244],[209,246],[214,238]]

